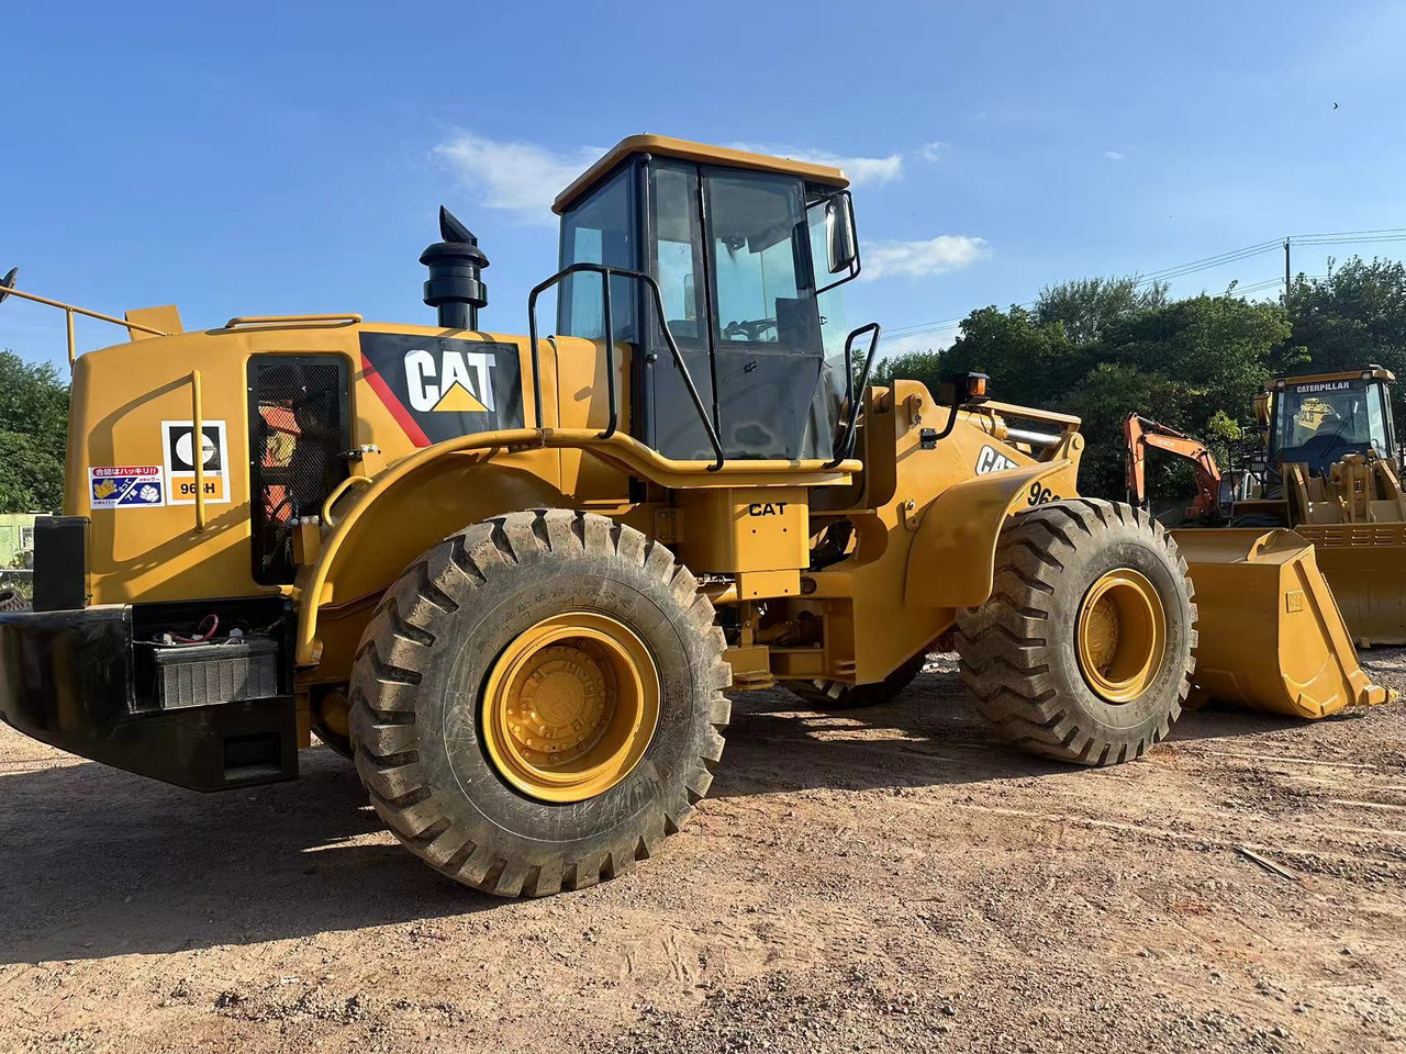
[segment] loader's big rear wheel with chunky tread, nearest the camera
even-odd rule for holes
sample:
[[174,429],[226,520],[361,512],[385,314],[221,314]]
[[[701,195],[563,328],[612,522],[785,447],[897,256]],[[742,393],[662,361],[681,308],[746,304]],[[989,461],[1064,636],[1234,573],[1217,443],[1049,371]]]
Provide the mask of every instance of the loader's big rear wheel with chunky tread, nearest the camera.
[[[353,666],[352,743],[371,804],[411,852],[485,892],[614,877],[683,825],[723,756],[730,672],[713,617],[666,548],[602,516],[513,513],[447,538],[387,590]],[[579,634],[561,628],[576,623]],[[633,651],[593,642],[599,625]],[[609,651],[600,669],[595,648]],[[644,697],[628,687],[631,655],[650,668],[652,710],[617,725],[626,698]],[[502,698],[516,708],[495,708]],[[561,748],[581,752],[574,762],[547,762],[551,736],[602,721],[606,732]],[[616,749],[617,727],[637,752]],[[599,788],[550,783],[589,769],[602,743],[628,765]]]

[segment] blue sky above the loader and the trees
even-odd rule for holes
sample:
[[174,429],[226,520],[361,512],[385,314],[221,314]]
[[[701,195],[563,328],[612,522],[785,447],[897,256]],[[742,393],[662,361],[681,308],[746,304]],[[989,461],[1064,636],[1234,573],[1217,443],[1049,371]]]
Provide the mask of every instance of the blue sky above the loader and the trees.
[[[416,257],[444,202],[492,261],[482,325],[526,332],[555,266],[547,204],[633,132],[845,159],[869,278],[848,313],[889,330],[1406,226],[1400,3],[53,10],[10,6],[0,32],[0,271],[111,313],[176,302],[187,327],[429,322]],[[1354,246],[1296,249],[1295,270],[1330,252]],[[1270,252],[1173,289],[1282,267]],[[120,336],[79,327],[86,347]],[[62,316],[10,299],[0,347],[60,361]]]

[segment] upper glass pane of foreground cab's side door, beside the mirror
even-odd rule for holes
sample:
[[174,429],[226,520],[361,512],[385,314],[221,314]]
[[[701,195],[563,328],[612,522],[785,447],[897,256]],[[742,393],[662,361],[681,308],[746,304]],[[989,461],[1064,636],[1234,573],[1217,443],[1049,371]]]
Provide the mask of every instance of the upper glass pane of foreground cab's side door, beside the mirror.
[[713,339],[820,351],[810,233],[801,183],[787,176],[710,173]]

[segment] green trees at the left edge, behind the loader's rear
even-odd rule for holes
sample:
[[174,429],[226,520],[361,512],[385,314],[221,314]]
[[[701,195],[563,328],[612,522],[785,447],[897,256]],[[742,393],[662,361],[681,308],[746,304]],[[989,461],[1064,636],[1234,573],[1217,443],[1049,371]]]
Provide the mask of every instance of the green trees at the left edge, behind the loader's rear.
[[63,506],[69,386],[49,364],[0,351],[0,512]]

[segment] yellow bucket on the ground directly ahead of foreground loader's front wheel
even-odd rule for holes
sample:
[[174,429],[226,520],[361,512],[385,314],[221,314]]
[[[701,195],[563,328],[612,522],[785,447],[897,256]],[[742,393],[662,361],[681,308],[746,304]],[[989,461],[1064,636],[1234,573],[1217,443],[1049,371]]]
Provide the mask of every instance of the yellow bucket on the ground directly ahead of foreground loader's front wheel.
[[1313,547],[1289,530],[1173,531],[1197,590],[1197,694],[1289,717],[1386,703]]

